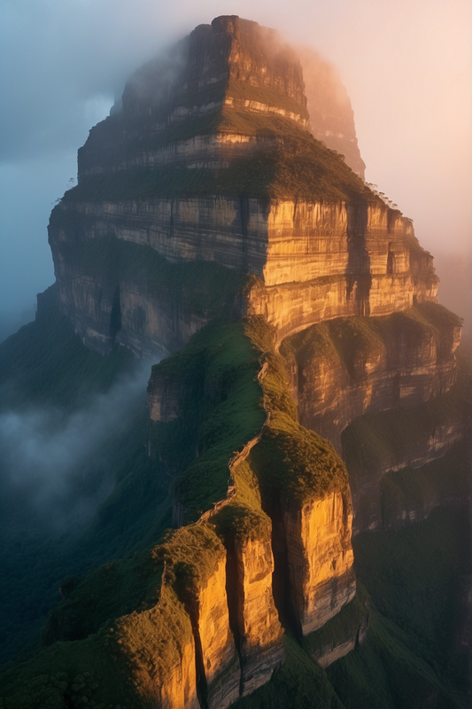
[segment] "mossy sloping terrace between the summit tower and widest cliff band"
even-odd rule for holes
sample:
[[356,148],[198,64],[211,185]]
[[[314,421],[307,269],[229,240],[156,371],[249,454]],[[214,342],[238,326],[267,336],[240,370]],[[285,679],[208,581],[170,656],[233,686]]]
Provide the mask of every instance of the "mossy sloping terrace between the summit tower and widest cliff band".
[[[276,144],[260,149],[251,157],[234,160],[228,168],[158,165],[152,169],[128,168],[83,177],[73,190],[66,191],[63,205],[212,195],[239,198],[242,194],[254,199],[383,204],[345,164],[343,156],[329,150],[289,119],[228,110],[198,121],[172,128],[166,139],[163,135],[151,143],[127,145],[126,152],[131,157],[138,151],[157,149],[170,138],[176,141],[215,132],[268,136],[274,141],[276,138]],[[53,218],[60,208],[59,205],[53,210]]]

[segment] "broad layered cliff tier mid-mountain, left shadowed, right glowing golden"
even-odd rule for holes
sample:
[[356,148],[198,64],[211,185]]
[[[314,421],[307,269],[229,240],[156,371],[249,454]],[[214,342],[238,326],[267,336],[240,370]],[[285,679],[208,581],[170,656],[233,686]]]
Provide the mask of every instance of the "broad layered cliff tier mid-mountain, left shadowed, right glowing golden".
[[[66,202],[51,215],[50,245],[60,308],[88,347],[103,353],[116,341],[137,356],[166,355],[225,308],[265,316],[282,339],[324,319],[436,300],[431,257],[411,222],[384,206],[223,197]],[[125,248],[127,260],[117,259]],[[114,269],[108,259],[97,268],[94,256],[105,252]],[[189,264],[189,288],[196,276],[201,288],[203,273],[205,308],[152,277],[149,264],[159,256],[181,271]],[[216,264],[231,269],[220,302],[211,288]],[[238,291],[237,272],[259,281]]]

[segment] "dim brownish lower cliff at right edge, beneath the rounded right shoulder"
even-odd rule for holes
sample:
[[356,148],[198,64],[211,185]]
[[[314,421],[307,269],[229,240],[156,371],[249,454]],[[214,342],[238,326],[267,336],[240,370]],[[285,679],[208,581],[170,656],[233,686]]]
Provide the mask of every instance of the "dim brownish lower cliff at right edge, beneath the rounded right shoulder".
[[[412,480],[412,485],[406,485],[403,493],[394,490],[393,503],[389,502],[392,491],[383,486],[383,479],[387,473],[404,470],[411,471],[410,478],[413,478],[413,471],[426,473],[428,464],[440,462],[448,451],[467,438],[468,414],[464,409],[453,390],[412,409],[365,415],[345,429],[342,445],[352,490],[353,534],[421,521],[437,504],[448,501],[450,493],[441,492],[440,488],[435,492],[426,475],[422,484],[425,495],[415,499]],[[466,454],[466,460],[467,457]],[[448,476],[446,461],[445,458],[442,474],[445,480],[453,477]],[[457,464],[451,467],[455,471]],[[462,497],[468,499],[467,489],[463,490]],[[450,502],[455,504],[456,498],[453,494]]]

